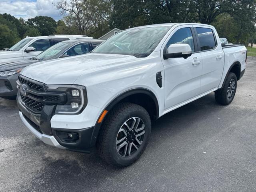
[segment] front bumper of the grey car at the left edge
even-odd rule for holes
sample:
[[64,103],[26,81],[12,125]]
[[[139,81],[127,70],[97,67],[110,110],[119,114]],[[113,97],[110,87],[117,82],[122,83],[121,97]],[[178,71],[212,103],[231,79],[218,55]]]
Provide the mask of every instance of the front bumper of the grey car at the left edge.
[[0,76],[0,97],[9,98],[17,95],[16,81],[19,73],[9,76]]

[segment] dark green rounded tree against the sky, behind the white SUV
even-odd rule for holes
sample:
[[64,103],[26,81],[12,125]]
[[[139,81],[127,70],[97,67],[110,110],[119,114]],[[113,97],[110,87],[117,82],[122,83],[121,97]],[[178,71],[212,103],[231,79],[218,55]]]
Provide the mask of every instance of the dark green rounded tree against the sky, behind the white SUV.
[[37,28],[43,36],[54,34],[57,27],[56,21],[47,16],[36,16],[35,18],[28,19],[26,24]]

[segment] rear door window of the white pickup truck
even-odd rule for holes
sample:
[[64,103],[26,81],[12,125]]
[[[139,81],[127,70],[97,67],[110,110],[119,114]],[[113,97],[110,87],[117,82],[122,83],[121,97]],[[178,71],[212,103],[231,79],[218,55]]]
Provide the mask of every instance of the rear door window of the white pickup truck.
[[214,49],[216,46],[212,29],[196,27],[201,51]]

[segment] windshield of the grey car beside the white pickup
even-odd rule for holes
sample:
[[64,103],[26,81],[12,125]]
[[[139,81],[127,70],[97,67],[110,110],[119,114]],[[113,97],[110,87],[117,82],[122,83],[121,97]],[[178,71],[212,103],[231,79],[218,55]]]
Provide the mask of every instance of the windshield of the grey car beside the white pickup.
[[67,43],[67,42],[57,43],[57,44],[51,46],[50,48],[46,49],[44,52],[40,53],[34,59],[43,60],[43,59],[48,59],[48,58],[51,58],[53,56],[56,56],[58,53],[60,53],[69,44],[70,43]]

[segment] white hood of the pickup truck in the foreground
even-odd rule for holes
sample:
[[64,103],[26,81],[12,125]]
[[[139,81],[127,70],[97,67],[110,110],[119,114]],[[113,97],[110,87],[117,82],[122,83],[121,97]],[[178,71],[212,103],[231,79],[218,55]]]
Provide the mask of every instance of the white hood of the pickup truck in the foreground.
[[84,73],[88,74],[138,59],[129,55],[91,53],[38,62],[24,68],[20,74],[45,84],[74,84],[75,80]]

